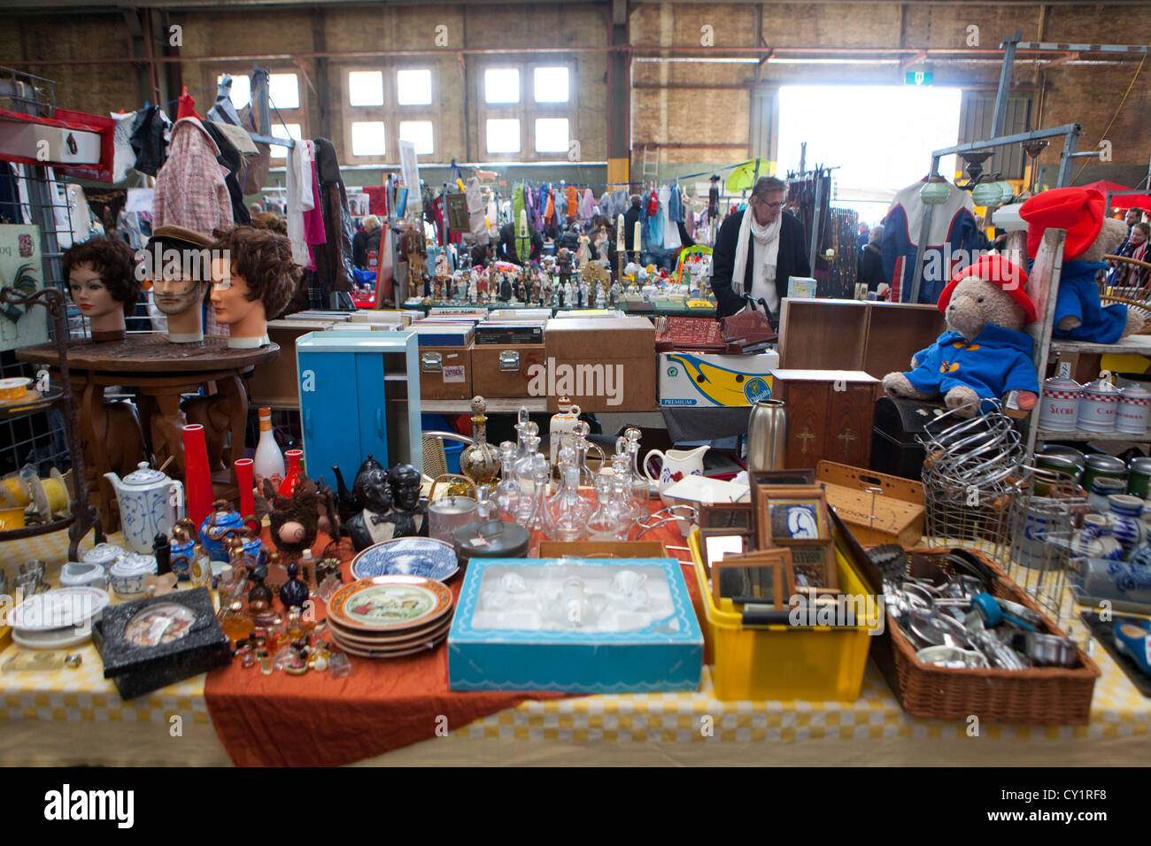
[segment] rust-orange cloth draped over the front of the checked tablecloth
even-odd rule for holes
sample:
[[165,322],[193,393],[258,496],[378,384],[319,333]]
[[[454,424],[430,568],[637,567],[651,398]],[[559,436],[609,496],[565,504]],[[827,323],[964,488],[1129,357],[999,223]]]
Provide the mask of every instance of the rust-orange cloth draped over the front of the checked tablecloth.
[[[653,502],[653,510],[661,505]],[[268,544],[265,529],[265,544]],[[674,524],[643,535],[668,547],[686,547]],[[328,539],[317,540],[319,558]],[[669,555],[691,561],[688,552]],[[344,584],[351,581],[350,558]],[[684,576],[698,601],[689,566]],[[463,573],[449,582],[459,599]],[[279,602],[279,599],[276,600]],[[317,618],[325,605],[315,603]],[[448,689],[448,649],[391,660],[349,656],[352,672],[341,679],[327,672],[265,676],[239,661],[207,676],[204,696],[216,736],[239,767],[338,767],[442,736],[528,699],[561,699],[555,693],[464,692]]]

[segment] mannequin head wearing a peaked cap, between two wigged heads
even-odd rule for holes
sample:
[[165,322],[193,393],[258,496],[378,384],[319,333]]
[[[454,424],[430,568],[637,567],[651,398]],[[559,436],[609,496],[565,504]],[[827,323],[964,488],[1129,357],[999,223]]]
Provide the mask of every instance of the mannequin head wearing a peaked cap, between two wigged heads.
[[204,340],[200,306],[208,288],[208,253],[212,239],[185,227],[157,227],[147,243],[152,302],[168,318],[173,343]]

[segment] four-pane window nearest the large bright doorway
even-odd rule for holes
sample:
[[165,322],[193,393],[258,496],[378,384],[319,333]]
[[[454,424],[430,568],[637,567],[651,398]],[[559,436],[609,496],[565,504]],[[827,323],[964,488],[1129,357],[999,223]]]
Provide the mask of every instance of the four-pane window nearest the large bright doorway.
[[579,137],[574,63],[494,62],[477,83],[482,158],[555,160]]

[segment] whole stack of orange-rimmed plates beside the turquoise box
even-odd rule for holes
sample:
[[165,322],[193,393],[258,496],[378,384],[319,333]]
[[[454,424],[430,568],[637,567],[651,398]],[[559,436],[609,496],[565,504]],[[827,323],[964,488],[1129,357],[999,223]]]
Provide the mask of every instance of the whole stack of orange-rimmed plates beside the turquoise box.
[[342,587],[328,602],[331,639],[361,658],[397,658],[442,643],[451,590],[420,576],[376,576]]

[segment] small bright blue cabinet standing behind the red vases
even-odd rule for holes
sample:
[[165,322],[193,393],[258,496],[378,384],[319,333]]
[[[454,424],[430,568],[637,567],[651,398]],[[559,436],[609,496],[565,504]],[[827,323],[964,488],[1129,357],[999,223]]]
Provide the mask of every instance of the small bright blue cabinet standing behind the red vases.
[[[310,478],[335,485],[338,466],[351,485],[368,455],[386,467],[403,460],[424,468],[418,355],[414,331],[313,331],[296,341]],[[406,403],[386,396],[387,384],[406,392]],[[388,448],[389,427],[398,427],[398,452]]]

